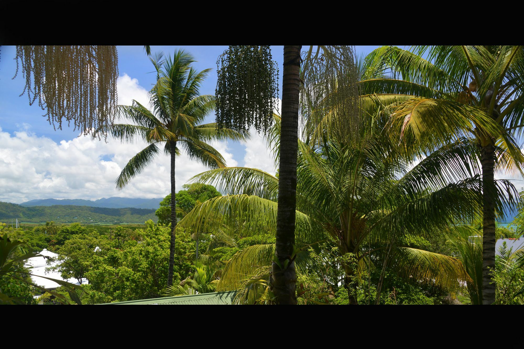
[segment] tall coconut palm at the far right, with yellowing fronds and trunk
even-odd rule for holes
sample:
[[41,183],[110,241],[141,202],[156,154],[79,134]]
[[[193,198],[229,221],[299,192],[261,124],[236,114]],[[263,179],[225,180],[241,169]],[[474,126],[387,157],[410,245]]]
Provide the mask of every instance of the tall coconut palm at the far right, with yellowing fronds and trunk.
[[[423,46],[411,51],[384,47],[366,61],[360,84],[364,93],[405,98],[396,105],[392,123],[406,142],[425,141],[433,149],[464,134],[476,139],[483,179],[482,295],[483,304],[492,304],[494,171],[506,167],[522,173],[524,160],[514,137],[522,134],[523,126],[524,47]],[[497,158],[497,146],[508,150],[506,164]]]

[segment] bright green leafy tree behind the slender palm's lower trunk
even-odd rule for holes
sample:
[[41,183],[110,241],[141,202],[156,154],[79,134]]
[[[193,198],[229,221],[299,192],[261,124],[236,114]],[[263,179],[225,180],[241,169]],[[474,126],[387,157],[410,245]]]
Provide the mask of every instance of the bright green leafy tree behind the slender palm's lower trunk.
[[[161,297],[166,289],[169,268],[170,229],[146,222],[137,229],[141,241],[127,240],[121,249],[109,247],[97,253],[85,277],[91,302],[127,301]],[[195,244],[181,228],[177,234],[174,282],[192,274]]]

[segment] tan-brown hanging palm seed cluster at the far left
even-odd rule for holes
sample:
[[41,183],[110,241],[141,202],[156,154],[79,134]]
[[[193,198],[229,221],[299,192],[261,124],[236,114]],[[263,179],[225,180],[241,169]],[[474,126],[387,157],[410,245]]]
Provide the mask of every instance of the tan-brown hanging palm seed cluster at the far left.
[[15,77],[20,60],[26,79],[20,96],[27,91],[29,105],[38,98],[55,130],[66,120],[84,135],[107,137],[117,103],[115,46],[17,46],[15,59]]

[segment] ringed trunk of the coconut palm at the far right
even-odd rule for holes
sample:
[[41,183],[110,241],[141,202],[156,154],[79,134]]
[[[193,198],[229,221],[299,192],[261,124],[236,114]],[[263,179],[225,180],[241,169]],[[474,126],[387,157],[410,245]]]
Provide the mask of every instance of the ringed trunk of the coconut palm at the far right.
[[495,302],[495,284],[492,270],[495,268],[495,151],[493,142],[481,149],[483,193],[482,238],[482,304]]

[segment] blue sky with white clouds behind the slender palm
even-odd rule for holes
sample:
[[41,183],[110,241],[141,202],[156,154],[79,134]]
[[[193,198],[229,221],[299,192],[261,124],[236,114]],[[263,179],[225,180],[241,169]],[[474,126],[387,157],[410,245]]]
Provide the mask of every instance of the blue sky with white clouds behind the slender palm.
[[[378,46],[357,46],[358,54],[367,54]],[[198,70],[211,68],[201,94],[214,94],[216,59],[226,46],[152,46],[152,52],[173,54],[177,49],[191,52]],[[147,103],[147,91],[155,83],[152,65],[143,46],[118,46],[119,104],[132,99]],[[281,91],[283,47],[271,47],[280,70]],[[64,125],[54,131],[38,104],[29,106],[24,90],[25,79],[16,71],[15,47],[4,46],[0,55],[0,201],[20,203],[42,198],[163,197],[169,193],[169,161],[161,155],[143,174],[126,188],[115,189],[114,181],[127,161],[145,144],[121,144],[114,140],[92,141],[77,137],[78,132]],[[280,98],[281,96],[279,96]],[[214,114],[209,115],[214,121]],[[230,166],[257,167],[274,173],[276,168],[265,141],[258,135],[245,144],[218,142],[214,146]],[[202,165],[177,158],[177,190],[192,176],[205,171]]]

